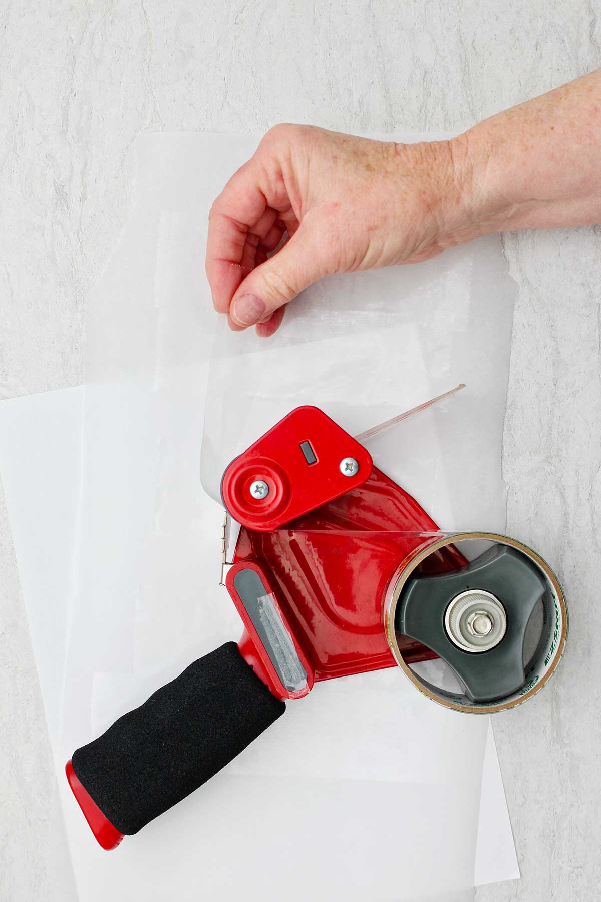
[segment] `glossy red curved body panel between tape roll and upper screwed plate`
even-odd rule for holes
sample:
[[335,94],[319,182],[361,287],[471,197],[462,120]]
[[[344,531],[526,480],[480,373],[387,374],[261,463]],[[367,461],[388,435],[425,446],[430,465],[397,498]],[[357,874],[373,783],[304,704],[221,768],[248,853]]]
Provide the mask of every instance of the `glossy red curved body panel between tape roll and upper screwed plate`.
[[[366,483],[285,528],[242,527],[234,560],[259,562],[269,571],[315,680],[331,679],[395,666],[383,601],[399,564],[428,541],[424,532],[433,540],[440,535],[414,498],[374,467]],[[452,547],[427,560],[430,573],[465,563]],[[410,663],[437,657],[407,637],[399,644]]]

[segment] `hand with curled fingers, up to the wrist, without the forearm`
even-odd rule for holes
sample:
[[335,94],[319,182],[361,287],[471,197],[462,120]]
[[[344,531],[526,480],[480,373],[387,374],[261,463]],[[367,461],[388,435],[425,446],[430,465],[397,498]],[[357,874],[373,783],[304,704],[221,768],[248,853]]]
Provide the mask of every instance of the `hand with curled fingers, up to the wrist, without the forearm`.
[[211,209],[215,309],[233,329],[258,324],[269,336],[285,305],[324,275],[427,260],[476,234],[460,142],[271,129]]

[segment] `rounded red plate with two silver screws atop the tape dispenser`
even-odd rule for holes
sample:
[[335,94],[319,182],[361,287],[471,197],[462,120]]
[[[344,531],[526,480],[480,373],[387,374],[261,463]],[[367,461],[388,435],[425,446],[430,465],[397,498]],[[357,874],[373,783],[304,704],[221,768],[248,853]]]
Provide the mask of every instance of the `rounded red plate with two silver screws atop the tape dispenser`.
[[[313,463],[303,452],[307,444]],[[341,472],[345,457],[359,464],[356,474]],[[321,410],[298,407],[232,460],[223,474],[223,503],[243,526],[269,532],[365,483],[372,466],[369,452]],[[252,497],[255,480],[268,484],[264,498]]]

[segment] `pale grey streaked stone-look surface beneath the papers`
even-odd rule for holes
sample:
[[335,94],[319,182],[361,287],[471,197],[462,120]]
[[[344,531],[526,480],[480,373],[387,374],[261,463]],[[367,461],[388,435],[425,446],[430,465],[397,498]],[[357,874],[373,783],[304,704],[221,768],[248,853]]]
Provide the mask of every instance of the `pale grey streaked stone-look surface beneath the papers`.
[[[600,64],[584,0],[5,0],[0,397],[81,381],[85,298],[128,216],[141,130],[459,131]],[[600,250],[596,228],[505,236],[519,285],[507,529],[557,565],[571,623],[559,676],[496,716],[523,879],[479,888],[478,902],[599,897]],[[68,902],[4,503],[0,554],[0,899]]]

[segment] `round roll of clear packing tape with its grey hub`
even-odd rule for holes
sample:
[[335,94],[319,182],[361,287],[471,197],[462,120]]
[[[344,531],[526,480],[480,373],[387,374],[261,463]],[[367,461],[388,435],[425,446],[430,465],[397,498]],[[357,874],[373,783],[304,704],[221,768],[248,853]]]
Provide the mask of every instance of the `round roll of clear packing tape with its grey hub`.
[[[469,557],[470,541],[478,542],[477,548],[487,543],[487,551],[458,571],[420,576],[425,559],[447,546],[458,546]],[[536,604],[542,622],[524,660]],[[423,695],[455,711],[496,713],[522,704],[551,677],[565,648],[568,608],[551,567],[522,542],[488,532],[439,533],[397,568],[387,590],[384,625],[396,663]],[[418,676],[405,663],[399,634],[436,651],[459,677],[463,694]]]

